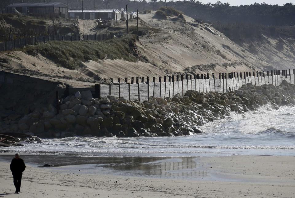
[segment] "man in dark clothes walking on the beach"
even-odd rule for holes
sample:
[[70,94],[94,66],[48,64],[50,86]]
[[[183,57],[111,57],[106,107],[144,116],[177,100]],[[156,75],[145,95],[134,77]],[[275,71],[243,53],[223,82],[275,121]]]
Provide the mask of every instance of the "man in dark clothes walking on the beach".
[[10,170],[13,174],[13,183],[16,189],[16,193],[20,192],[22,182],[22,172],[26,169],[24,160],[19,158],[19,154],[15,154],[15,158],[12,159],[10,164]]

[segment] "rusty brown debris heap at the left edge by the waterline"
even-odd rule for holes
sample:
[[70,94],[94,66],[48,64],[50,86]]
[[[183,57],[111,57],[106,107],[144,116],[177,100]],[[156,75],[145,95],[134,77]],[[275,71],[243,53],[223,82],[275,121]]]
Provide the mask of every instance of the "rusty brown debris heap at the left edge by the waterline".
[[22,144],[18,144],[20,141],[25,142],[41,142],[40,138],[37,136],[31,136],[24,133],[2,133],[0,134],[0,146],[8,147],[8,146],[23,146]]

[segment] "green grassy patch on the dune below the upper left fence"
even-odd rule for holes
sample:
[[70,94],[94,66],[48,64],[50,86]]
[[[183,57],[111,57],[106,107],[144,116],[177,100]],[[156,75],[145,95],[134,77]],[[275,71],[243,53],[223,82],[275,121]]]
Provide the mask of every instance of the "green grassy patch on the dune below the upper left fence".
[[50,41],[28,46],[24,50],[28,53],[40,53],[62,67],[77,69],[82,61],[98,61],[105,57],[137,61],[130,54],[129,48],[134,45],[135,40],[135,35],[128,35],[106,41]]

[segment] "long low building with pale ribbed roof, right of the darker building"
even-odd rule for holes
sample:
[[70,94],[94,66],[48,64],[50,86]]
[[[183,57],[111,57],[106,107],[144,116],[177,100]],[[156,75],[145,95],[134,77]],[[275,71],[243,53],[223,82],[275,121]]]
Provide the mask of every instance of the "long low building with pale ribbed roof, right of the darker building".
[[117,9],[90,10],[90,9],[70,9],[69,17],[78,19],[119,19],[120,11]]

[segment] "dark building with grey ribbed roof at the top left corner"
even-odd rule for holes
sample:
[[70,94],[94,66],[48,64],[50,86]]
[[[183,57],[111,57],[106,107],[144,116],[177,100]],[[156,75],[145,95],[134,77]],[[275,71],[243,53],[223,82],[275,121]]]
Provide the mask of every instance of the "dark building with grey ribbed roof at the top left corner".
[[68,6],[63,3],[13,3],[7,6],[7,13],[15,10],[25,15],[68,17]]

